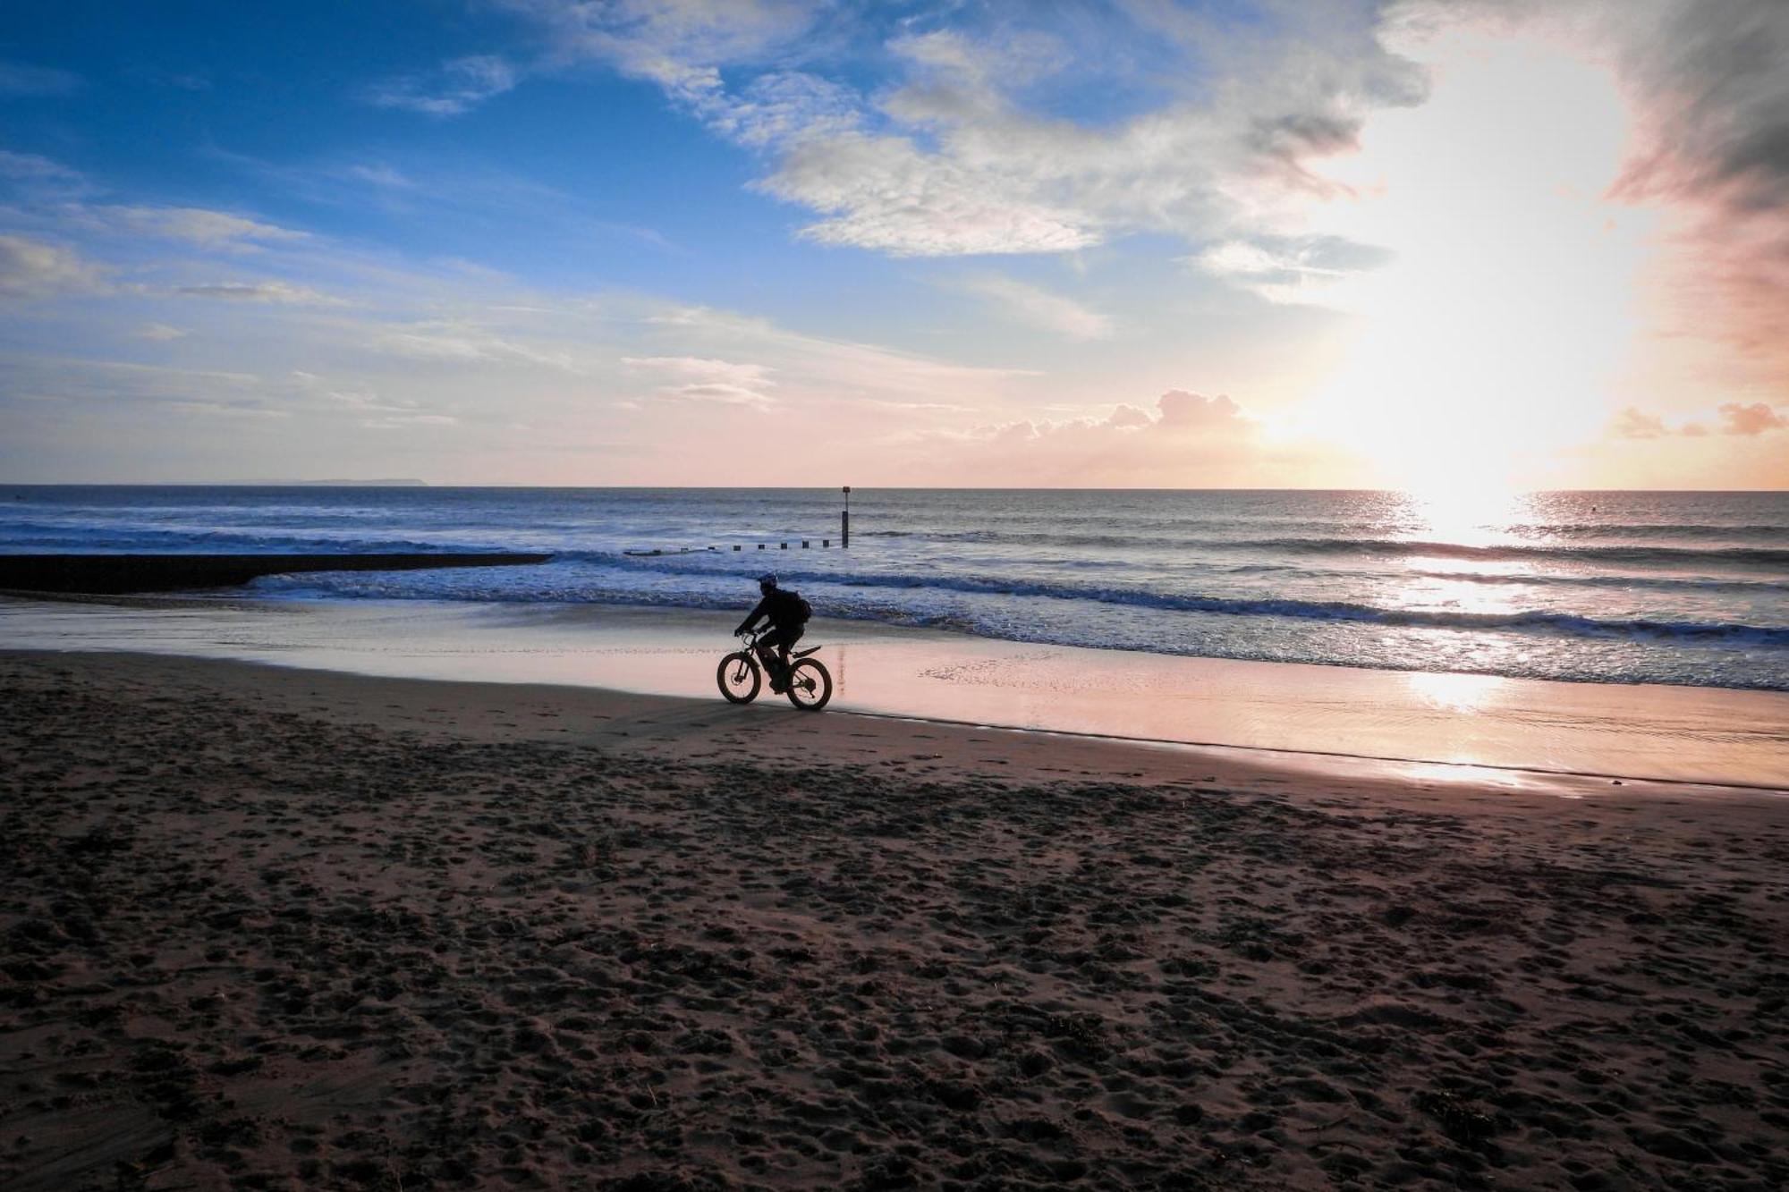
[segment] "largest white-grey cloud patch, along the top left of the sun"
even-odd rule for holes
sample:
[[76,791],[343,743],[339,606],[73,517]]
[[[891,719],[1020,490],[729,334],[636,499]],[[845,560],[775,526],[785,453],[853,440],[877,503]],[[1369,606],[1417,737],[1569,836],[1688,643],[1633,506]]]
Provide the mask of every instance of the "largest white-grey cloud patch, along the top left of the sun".
[[[1308,161],[1354,143],[1365,115],[1420,95],[1360,11],[1265,4],[1259,21],[1217,25],[1138,4],[1077,32],[1002,23],[986,36],[896,36],[903,86],[871,104],[837,81],[766,70],[823,27],[819,5],[512,0],[560,54],[596,57],[667,95],[775,166],[757,186],[818,211],[801,234],[891,256],[1073,252],[1115,234],[1193,240],[1272,231],[1290,195],[1324,192]],[[1038,14],[1039,21],[1048,14]],[[1022,97],[1068,66],[1179,47],[1199,81],[1111,122],[1027,111]],[[723,75],[721,68],[728,68]],[[735,86],[733,75],[748,82]],[[1184,93],[1175,95],[1175,89]]]

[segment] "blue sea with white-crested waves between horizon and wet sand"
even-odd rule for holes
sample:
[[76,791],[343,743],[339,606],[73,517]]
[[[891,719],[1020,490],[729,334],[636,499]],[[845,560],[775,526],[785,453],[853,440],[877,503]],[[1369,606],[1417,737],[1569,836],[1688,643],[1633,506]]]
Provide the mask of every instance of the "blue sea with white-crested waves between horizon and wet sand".
[[850,549],[841,505],[837,489],[0,487],[0,551],[553,551],[249,594],[744,610],[775,571],[823,617],[1022,643],[1789,691],[1789,492],[857,489]]

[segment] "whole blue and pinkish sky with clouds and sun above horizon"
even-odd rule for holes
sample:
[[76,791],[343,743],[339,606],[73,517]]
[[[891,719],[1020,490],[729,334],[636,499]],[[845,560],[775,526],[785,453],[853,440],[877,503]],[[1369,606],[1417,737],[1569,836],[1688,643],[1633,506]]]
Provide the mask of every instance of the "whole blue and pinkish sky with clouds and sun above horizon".
[[1691,9],[14,5],[0,478],[1780,485]]

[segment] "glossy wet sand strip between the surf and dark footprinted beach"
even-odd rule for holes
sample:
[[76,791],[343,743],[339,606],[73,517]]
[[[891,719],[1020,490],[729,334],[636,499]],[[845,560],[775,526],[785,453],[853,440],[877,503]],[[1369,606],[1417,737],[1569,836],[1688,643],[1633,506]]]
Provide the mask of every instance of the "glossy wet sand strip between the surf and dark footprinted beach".
[[[0,643],[716,700],[733,616],[610,605],[0,600]],[[1789,693],[1039,646],[816,619],[830,712],[1386,764],[1789,789]],[[764,700],[767,696],[760,696]]]

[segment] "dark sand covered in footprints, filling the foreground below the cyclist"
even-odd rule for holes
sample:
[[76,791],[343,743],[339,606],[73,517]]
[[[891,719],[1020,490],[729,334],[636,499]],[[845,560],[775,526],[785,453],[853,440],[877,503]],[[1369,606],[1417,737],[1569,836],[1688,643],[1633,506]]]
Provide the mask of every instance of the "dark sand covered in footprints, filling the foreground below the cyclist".
[[0,725],[7,1188],[1789,1183],[1780,796],[143,655]]

